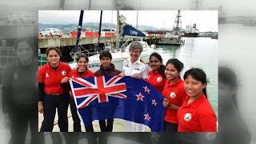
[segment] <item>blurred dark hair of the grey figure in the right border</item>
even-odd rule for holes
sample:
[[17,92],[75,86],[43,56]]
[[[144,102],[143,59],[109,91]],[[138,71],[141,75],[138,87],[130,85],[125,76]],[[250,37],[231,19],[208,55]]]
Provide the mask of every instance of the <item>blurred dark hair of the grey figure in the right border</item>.
[[[223,82],[231,86],[232,90],[238,90],[238,80],[237,75],[234,74],[234,70],[227,66],[218,66],[218,81]],[[234,106],[238,107],[236,93],[231,96],[231,102]]]

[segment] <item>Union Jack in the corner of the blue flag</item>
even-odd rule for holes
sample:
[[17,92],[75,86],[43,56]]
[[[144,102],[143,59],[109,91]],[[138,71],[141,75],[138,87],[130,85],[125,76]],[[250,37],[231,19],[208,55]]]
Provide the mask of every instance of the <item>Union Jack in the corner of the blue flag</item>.
[[[126,83],[119,82],[121,77],[114,76],[110,79],[101,77],[94,78],[70,78],[70,84],[74,97],[77,98],[78,109],[82,109],[93,102],[109,102],[109,97],[127,98],[125,94]],[[79,99],[81,99],[79,101]]]

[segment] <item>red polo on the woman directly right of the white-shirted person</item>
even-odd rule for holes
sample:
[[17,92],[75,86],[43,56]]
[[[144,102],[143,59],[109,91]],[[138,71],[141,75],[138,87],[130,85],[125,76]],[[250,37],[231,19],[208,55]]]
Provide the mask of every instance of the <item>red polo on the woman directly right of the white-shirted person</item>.
[[166,78],[162,78],[162,74],[160,74],[159,72],[154,73],[154,71],[151,70],[147,82],[149,82],[152,86],[154,86],[156,90],[162,93],[162,90],[166,83]]

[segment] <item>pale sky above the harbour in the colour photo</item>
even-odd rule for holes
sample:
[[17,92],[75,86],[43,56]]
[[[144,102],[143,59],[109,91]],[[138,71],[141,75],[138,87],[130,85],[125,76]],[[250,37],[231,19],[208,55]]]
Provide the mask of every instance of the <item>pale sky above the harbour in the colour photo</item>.
[[[158,29],[172,29],[178,10],[120,10],[119,14],[126,17],[126,23],[154,26]],[[38,22],[54,24],[78,23],[79,10],[39,10]],[[199,31],[218,31],[217,10],[182,10],[182,28],[197,24]],[[100,10],[85,10],[83,22],[99,22]],[[116,10],[103,10],[102,22],[117,22]]]

